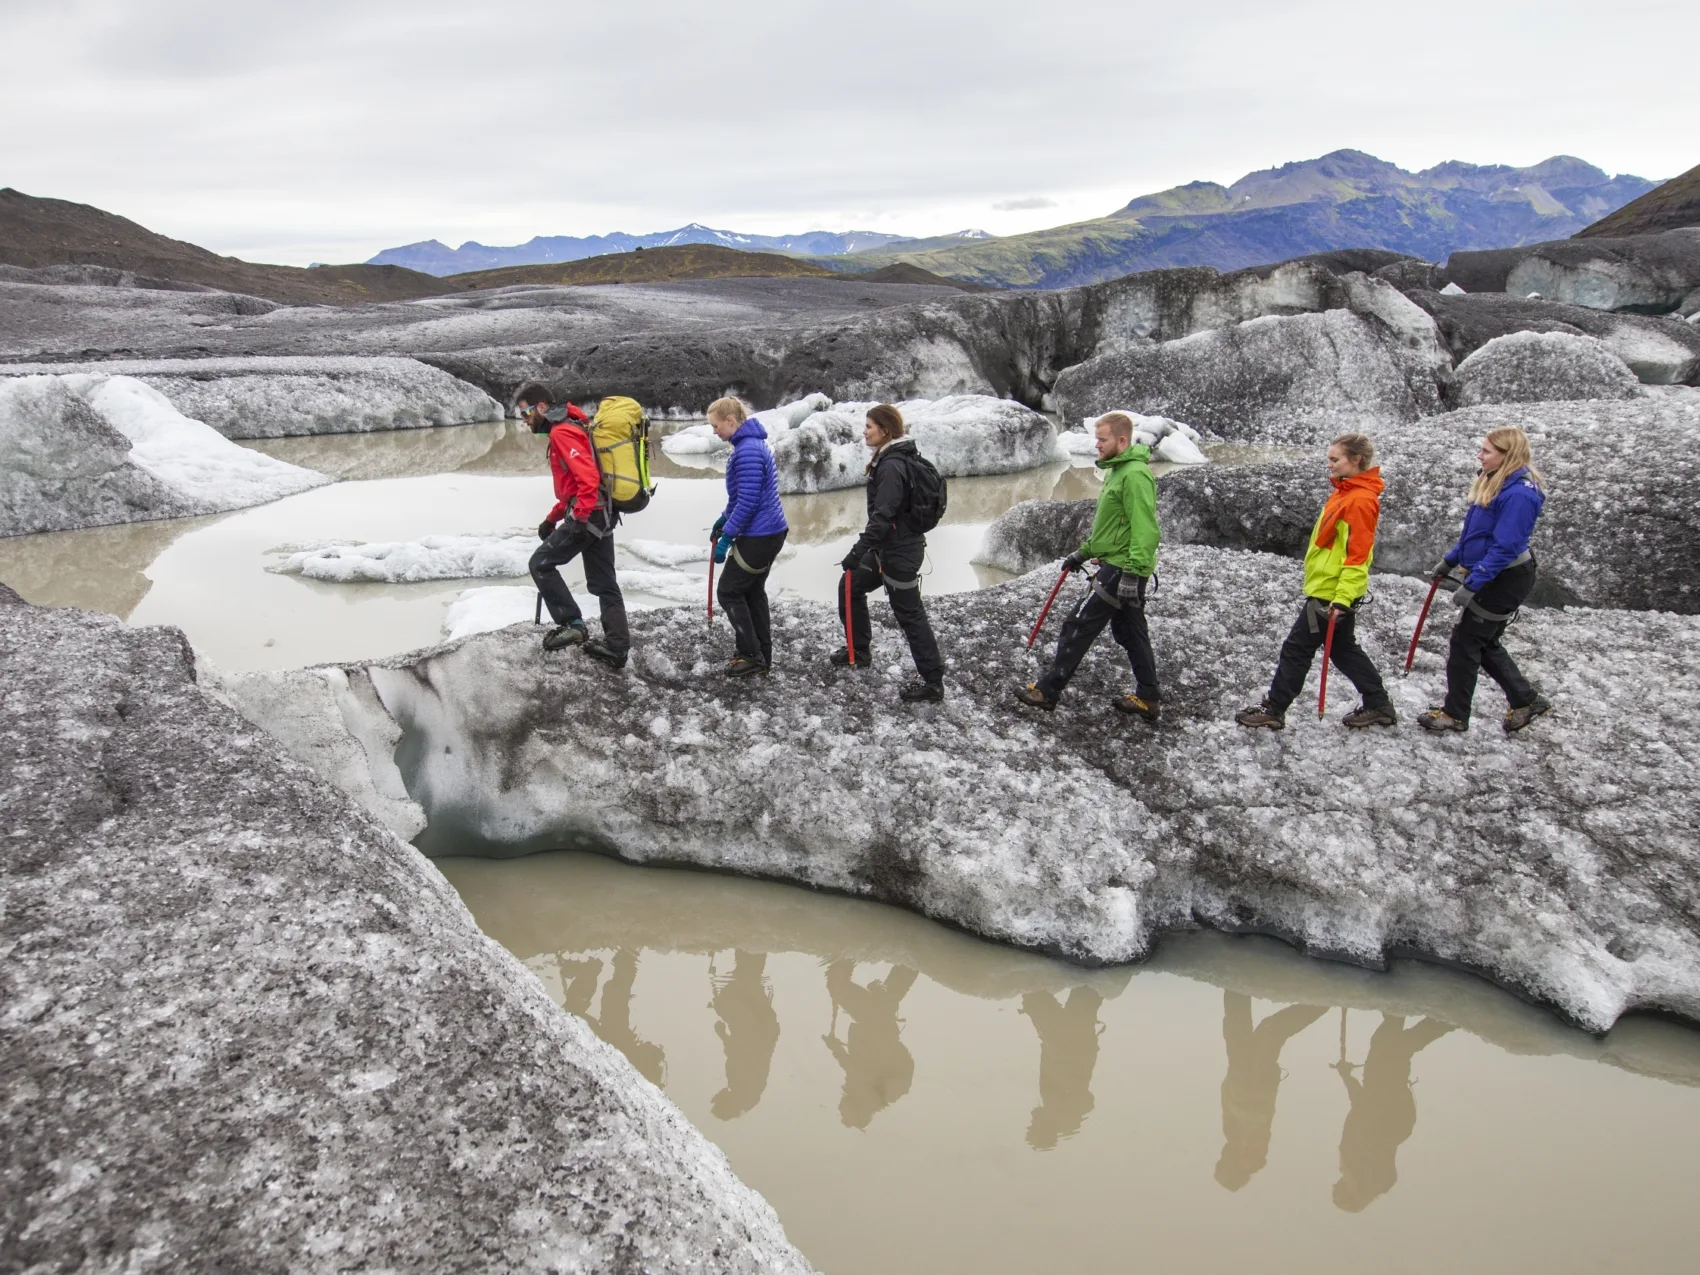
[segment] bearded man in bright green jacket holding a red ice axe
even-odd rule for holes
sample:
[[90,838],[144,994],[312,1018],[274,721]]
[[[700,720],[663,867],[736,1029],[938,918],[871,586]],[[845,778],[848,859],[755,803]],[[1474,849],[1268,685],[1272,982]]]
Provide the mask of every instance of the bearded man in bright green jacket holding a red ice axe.
[[1051,672],[1017,690],[1015,699],[1035,709],[1054,709],[1086,649],[1108,624],[1134,666],[1134,694],[1120,695],[1112,704],[1154,722],[1158,663],[1146,627],[1146,581],[1156,568],[1158,541],[1163,537],[1158,532],[1158,484],[1146,464],[1151,449],[1134,445],[1134,422],[1120,411],[1098,416],[1096,435],[1098,468],[1103,469],[1098,512],[1091,518],[1091,536],[1062,559],[1064,571],[1080,571],[1096,559],[1091,592],[1064,620]]

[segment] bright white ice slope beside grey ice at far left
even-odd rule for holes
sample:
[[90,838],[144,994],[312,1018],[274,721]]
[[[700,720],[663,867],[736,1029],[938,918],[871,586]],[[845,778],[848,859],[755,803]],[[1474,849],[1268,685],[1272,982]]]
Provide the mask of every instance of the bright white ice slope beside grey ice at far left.
[[131,442],[129,459],[162,483],[211,510],[246,508],[332,479],[313,469],[238,447],[165,394],[129,376],[73,374],[66,388]]

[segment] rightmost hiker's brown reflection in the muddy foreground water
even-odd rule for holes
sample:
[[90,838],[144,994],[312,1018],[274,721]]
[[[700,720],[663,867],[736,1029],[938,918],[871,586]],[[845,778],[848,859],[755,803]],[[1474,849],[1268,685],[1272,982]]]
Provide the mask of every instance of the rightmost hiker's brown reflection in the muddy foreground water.
[[[1370,1037],[1368,1057],[1362,1064],[1345,1057],[1334,1064],[1352,1098],[1346,1127],[1340,1134],[1336,1207],[1355,1214],[1392,1190],[1399,1178],[1394,1156],[1416,1129],[1411,1059],[1450,1030],[1450,1023],[1436,1018],[1425,1018],[1406,1030],[1404,1018],[1384,1013],[1382,1025]],[[1362,1081],[1352,1074],[1358,1066],[1363,1068]]]

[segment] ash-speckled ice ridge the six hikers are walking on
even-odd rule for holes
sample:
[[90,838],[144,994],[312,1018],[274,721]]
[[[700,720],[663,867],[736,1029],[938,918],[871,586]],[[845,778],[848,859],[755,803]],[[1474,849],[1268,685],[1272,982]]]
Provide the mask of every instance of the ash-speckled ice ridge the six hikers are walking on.
[[[724,643],[697,615],[651,612],[622,675],[544,658],[524,627],[348,665],[374,721],[332,719],[314,670],[291,675],[294,699],[248,702],[245,678],[231,694],[303,758],[296,741],[326,731],[398,731],[432,852],[588,847],[775,877],[1083,964],[1137,960],[1166,932],[1258,930],[1372,967],[1454,962],[1595,1032],[1630,1010],[1700,1022],[1700,672],[1669,658],[1700,619],[1525,612],[1518,658],[1556,711],[1513,738],[1486,687],[1469,734],[1411,724],[1440,687],[1443,624],[1391,678],[1399,729],[1341,729],[1341,695],[1328,722],[1295,709],[1285,733],[1250,734],[1231,714],[1268,678],[1295,564],[1175,546],[1161,571],[1156,729],[1110,712],[1127,670],[1108,644],[1056,714],[1010,702],[1037,672],[1022,639],[1049,566],[930,602],[950,661],[937,709],[894,704],[904,648],[882,609],[876,673],[852,677],[821,658],[836,617],[792,600],[755,685],[714,677]],[[1423,590],[1375,580],[1360,634],[1384,672]]]

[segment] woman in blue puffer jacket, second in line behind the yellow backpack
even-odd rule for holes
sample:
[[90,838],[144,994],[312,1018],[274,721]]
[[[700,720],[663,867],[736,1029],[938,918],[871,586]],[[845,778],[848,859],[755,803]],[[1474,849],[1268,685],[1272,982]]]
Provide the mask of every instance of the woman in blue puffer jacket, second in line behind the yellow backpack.
[[774,631],[767,609],[767,573],[785,547],[785,510],[767,430],[736,398],[709,405],[709,427],[733,445],[726,462],[726,512],[714,520],[714,561],[726,563],[717,597],[731,620],[738,653],[726,677],[751,677],[774,666]]

